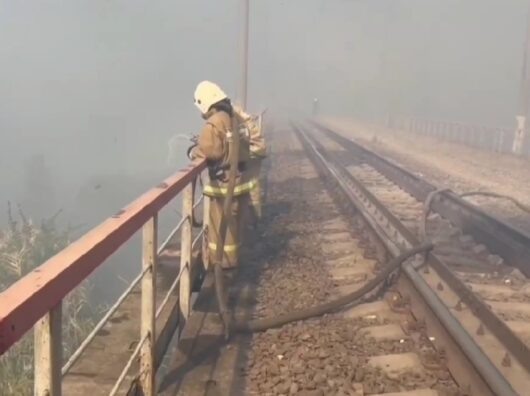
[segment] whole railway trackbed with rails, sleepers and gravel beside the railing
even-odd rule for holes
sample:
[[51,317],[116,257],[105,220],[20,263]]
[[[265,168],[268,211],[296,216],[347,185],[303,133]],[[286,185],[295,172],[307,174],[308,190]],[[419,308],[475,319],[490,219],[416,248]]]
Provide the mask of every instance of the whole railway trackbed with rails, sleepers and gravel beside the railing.
[[[389,176],[399,174],[391,164],[379,168],[362,147],[317,125],[279,130],[271,143],[263,228],[229,289],[238,317],[282,315],[348,294],[420,243],[423,200],[396,182],[408,176]],[[527,394],[530,299],[522,270],[513,270],[524,262],[520,251],[498,250],[524,236],[501,233],[490,251],[470,236],[477,224],[446,215],[447,194],[433,200],[426,223],[435,243],[427,265],[409,260],[359,305],[226,344],[207,278],[160,394]]]

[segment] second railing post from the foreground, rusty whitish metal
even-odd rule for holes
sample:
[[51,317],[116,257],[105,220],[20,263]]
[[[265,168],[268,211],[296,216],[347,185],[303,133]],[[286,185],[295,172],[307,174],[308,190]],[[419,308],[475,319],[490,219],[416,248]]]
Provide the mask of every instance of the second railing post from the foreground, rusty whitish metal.
[[155,313],[156,313],[156,250],[158,216],[155,214],[142,230],[142,323],[140,340],[147,337],[140,351],[140,386],[142,394],[154,396],[155,385]]

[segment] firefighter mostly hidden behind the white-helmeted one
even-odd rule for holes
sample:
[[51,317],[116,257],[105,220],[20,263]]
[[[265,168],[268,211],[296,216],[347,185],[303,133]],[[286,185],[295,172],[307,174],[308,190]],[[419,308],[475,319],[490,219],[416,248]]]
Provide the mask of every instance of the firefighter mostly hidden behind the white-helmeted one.
[[[238,121],[244,126],[242,129],[245,131],[246,138],[249,141],[250,161],[248,163],[248,172],[250,173],[250,177],[253,180],[256,180],[256,186],[250,192],[249,205],[251,209],[252,226],[256,228],[262,216],[261,188],[259,181],[261,162],[265,158],[267,152],[261,125],[263,114],[257,117],[251,116],[239,106],[234,106],[234,112]],[[243,220],[245,218],[246,214],[242,216]]]

